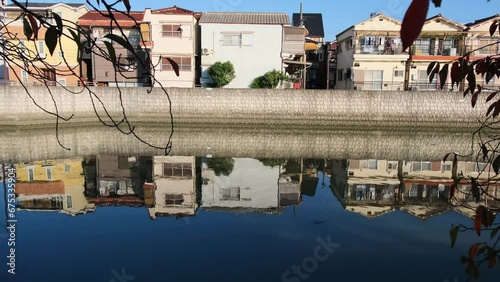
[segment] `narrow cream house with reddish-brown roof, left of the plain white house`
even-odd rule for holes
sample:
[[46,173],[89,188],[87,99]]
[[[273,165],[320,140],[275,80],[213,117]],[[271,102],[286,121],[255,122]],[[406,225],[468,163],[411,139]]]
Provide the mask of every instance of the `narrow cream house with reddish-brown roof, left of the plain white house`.
[[[199,85],[199,26],[201,14],[177,6],[144,12],[141,33],[155,65],[154,86],[191,88]],[[176,75],[170,58],[179,66]]]

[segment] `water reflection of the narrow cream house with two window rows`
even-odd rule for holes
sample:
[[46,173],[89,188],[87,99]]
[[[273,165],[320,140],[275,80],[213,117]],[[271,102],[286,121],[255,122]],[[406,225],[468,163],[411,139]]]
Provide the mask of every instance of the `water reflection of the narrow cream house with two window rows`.
[[145,184],[145,201],[151,206],[149,215],[152,219],[196,214],[195,160],[194,156],[153,157],[154,183]]

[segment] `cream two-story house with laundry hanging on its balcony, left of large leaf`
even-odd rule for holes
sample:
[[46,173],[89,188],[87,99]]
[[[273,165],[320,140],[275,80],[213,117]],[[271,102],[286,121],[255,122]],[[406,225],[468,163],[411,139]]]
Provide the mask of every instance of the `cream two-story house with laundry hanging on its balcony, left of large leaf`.
[[337,35],[336,89],[403,89],[404,63],[401,22],[372,14]]

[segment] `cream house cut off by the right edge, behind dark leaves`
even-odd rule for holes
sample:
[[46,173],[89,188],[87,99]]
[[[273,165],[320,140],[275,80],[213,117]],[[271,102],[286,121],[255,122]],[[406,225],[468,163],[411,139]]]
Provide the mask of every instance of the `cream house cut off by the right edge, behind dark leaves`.
[[[493,36],[491,36],[489,31],[491,24],[495,21],[500,22],[499,14],[466,24],[467,51],[471,52],[476,50],[471,54],[475,59],[485,58],[500,53],[500,44],[496,43],[500,40],[500,34],[495,32]],[[486,83],[485,78],[478,77],[477,82],[488,88],[500,90],[500,79],[496,76],[493,76],[488,83]]]

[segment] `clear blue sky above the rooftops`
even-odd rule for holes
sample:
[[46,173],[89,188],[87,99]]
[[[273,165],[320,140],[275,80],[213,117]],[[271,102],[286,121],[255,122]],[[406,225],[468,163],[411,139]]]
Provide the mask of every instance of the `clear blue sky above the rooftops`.
[[[91,1],[95,3],[95,0]],[[40,2],[40,0],[34,2]],[[66,2],[85,1],[67,0]],[[133,10],[177,5],[199,12],[270,11],[285,12],[290,15],[299,12],[300,2],[302,2],[305,13],[323,13],[326,39],[334,40],[339,32],[367,19],[371,12],[383,12],[396,19],[402,19],[411,0],[130,0],[130,2]],[[436,9],[432,6],[429,16],[441,13],[451,20],[467,23],[500,13],[499,2],[500,0],[490,2],[487,0],[443,0],[443,7]]]

